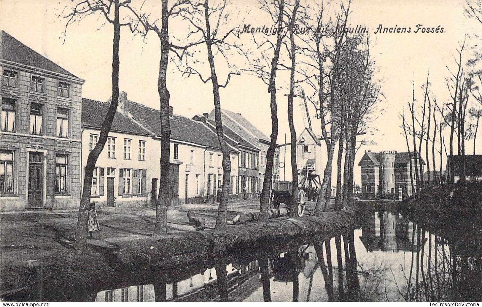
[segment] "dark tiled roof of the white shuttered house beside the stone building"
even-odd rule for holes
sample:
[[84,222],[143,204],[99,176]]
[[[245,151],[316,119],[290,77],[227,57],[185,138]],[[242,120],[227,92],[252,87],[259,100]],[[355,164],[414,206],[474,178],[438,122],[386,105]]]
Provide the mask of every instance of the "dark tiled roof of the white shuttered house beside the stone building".
[[[100,129],[109,109],[109,103],[82,98],[82,125]],[[112,121],[112,132],[134,135],[153,136],[151,132],[139,126],[132,118],[116,112]]]

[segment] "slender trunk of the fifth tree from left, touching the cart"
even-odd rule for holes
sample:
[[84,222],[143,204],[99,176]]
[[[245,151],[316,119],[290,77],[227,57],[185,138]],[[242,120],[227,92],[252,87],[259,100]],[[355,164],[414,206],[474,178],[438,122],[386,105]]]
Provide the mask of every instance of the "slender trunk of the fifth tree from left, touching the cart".
[[[290,92],[288,94],[288,124],[290,126],[291,134],[291,175],[292,175],[292,190],[291,190],[291,200],[290,200],[290,211],[292,213],[298,210],[298,166],[296,164],[296,130],[295,124],[293,122],[293,100],[295,97],[295,70],[296,70],[296,46],[295,46],[295,33],[293,27],[296,21],[296,11],[298,10],[300,0],[295,0],[295,7],[291,16],[289,24],[290,32],[290,44],[291,44],[291,69],[290,69]],[[307,170],[308,176],[308,170]]]

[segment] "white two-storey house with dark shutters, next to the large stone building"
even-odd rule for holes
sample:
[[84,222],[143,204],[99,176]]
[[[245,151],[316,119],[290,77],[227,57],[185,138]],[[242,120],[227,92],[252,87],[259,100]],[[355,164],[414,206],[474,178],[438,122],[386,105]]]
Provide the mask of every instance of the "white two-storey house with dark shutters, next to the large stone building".
[[[109,104],[82,98],[82,183],[87,157],[97,144]],[[109,207],[146,205],[151,179],[159,178],[160,142],[119,110],[94,169],[91,200]]]

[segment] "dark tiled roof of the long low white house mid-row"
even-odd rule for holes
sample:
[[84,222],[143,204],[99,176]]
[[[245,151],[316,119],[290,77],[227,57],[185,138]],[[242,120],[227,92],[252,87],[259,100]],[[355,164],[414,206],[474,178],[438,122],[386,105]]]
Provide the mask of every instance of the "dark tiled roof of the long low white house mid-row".
[[[161,136],[161,111],[149,108],[143,104],[129,101],[129,113],[144,128]],[[171,139],[220,149],[216,134],[203,123],[193,119],[173,115],[170,117]]]

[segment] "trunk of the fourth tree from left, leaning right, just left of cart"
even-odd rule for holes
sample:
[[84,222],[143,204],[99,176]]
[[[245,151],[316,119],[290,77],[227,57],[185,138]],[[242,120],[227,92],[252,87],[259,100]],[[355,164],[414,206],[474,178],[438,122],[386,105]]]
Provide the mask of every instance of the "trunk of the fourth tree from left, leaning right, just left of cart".
[[[279,2],[278,29],[283,26],[284,0]],[[276,72],[280,59],[280,49],[282,41],[282,31],[277,32],[276,46],[273,59],[271,61],[271,74],[269,76],[268,92],[270,93],[269,106],[271,108],[271,136],[268,151],[266,153],[266,172],[263,181],[263,190],[259,206],[259,220],[268,218],[269,197],[271,191],[271,179],[273,177],[273,160],[276,151],[276,141],[278,139],[278,105],[276,104]]]

